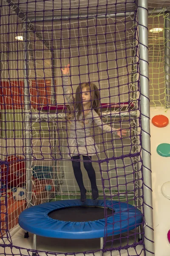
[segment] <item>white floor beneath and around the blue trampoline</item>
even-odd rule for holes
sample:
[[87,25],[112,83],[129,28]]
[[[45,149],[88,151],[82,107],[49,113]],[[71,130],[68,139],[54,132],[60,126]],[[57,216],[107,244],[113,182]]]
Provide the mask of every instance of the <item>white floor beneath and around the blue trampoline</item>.
[[[133,234],[133,231],[130,233],[131,235]],[[24,230],[19,229],[17,233],[12,236],[12,243],[14,246],[17,247],[23,247],[23,248],[32,248],[32,241],[33,241],[33,235],[30,234],[30,237],[28,239],[24,238]],[[127,239],[123,238],[122,234],[122,246],[126,246],[127,244]],[[2,243],[2,241],[0,242]],[[133,243],[133,240],[130,241],[129,239],[129,244]],[[8,243],[6,243],[8,244]],[[120,243],[119,241],[114,243],[115,247],[119,247]],[[108,244],[108,247],[111,245]],[[61,252],[59,253],[59,256],[64,256],[63,252],[85,252],[85,251],[95,251],[99,250],[100,248],[100,239],[87,239],[87,240],[69,240],[69,239],[51,239],[51,238],[46,238],[46,237],[41,237],[37,236],[37,250],[41,251],[47,251],[47,252]],[[3,248],[0,248],[0,253],[3,252]],[[6,255],[11,255],[11,248],[6,247],[5,249]],[[16,248],[12,249],[12,253],[14,255],[20,255],[19,253],[22,253],[22,255],[27,256],[31,255],[28,254],[26,249],[23,250],[18,250]],[[39,253],[41,256],[51,256],[54,254],[53,253]],[[1,254],[0,254],[1,255]],[[83,256],[83,253],[79,253],[79,256]],[[86,253],[86,255],[91,255],[91,253]],[[100,256],[100,252],[94,253],[95,256]],[[144,256],[144,251],[142,246],[137,246],[136,249],[134,248],[129,248],[128,250],[121,250],[121,253],[119,251],[113,251],[112,254],[110,252],[105,253],[105,256]]]

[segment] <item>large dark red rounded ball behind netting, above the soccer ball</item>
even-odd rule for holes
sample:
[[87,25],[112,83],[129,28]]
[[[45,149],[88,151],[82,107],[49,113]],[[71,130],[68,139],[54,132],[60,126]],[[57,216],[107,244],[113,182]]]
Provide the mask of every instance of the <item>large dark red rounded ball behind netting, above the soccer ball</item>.
[[[5,161],[9,163],[8,167],[8,187],[22,186],[26,182],[26,167],[24,158],[21,156],[8,156]],[[7,179],[7,166],[1,167],[2,181],[6,183]]]

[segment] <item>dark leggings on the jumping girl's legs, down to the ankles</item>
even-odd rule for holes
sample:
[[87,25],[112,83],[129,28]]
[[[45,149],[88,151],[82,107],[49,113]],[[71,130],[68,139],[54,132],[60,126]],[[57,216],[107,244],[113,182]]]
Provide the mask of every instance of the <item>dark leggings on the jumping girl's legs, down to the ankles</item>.
[[[92,166],[92,163],[91,163],[91,157],[89,156],[82,156],[83,157],[83,164],[84,164],[84,167],[88,173],[88,177],[90,179],[90,182],[91,182],[91,188],[92,189],[96,189],[97,188],[97,185],[96,185],[96,173],[94,171],[94,168]],[[82,180],[82,171],[81,171],[81,168],[80,168],[80,156],[74,156],[74,157],[71,157],[72,159],[72,166],[73,166],[73,170],[74,170],[74,176],[76,178],[76,181],[79,185],[79,189],[80,191],[83,191],[85,190],[85,186],[83,184],[83,180]],[[77,161],[75,161],[77,160]]]

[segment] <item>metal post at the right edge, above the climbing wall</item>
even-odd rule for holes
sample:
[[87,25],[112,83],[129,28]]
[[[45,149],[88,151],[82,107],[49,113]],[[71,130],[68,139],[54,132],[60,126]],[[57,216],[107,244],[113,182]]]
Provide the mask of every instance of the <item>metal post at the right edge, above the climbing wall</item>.
[[164,27],[165,108],[170,108],[170,12],[166,13]]

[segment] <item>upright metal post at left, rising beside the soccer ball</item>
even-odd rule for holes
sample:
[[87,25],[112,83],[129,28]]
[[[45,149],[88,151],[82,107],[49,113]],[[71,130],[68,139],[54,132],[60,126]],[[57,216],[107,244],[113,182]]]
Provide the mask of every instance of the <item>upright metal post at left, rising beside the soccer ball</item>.
[[27,207],[31,207],[32,198],[32,180],[31,180],[31,121],[30,121],[30,93],[28,83],[28,31],[27,23],[24,24],[24,143],[25,143],[25,161],[26,161],[26,196]]

